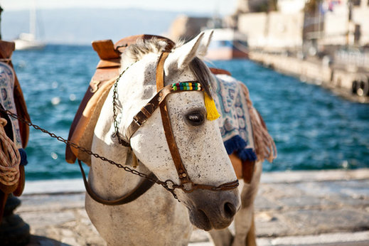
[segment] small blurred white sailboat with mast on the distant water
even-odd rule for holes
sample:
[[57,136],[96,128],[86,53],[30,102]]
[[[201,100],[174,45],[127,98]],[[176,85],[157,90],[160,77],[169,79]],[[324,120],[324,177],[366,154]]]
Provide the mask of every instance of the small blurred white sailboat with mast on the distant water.
[[46,43],[36,39],[36,4],[34,1],[29,14],[29,33],[21,33],[14,43],[16,43],[16,50],[41,50],[46,46]]

